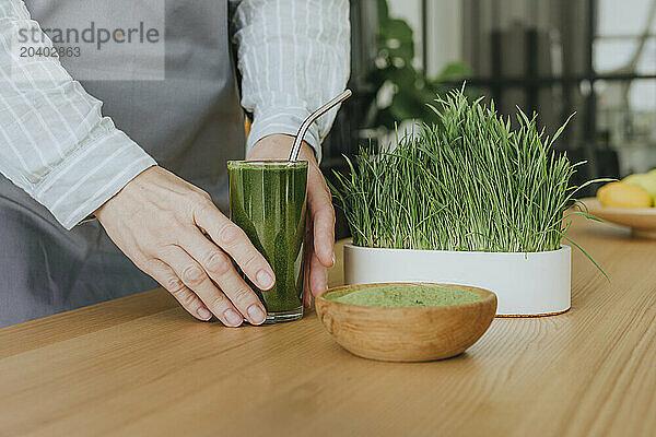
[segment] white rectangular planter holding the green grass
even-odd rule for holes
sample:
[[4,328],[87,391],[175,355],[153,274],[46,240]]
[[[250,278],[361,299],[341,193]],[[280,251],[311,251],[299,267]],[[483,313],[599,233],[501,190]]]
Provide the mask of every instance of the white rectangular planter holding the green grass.
[[572,249],[467,252],[344,246],[344,282],[438,282],[496,294],[497,316],[546,316],[571,306]]

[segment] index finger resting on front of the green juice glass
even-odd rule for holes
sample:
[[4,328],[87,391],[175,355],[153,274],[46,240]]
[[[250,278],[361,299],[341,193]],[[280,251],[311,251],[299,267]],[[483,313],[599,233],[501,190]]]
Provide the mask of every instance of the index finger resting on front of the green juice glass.
[[223,215],[216,206],[208,204],[195,213],[196,224],[207,232],[216,246],[225,250],[242,268],[248,279],[260,290],[269,290],[276,283],[273,270],[265,257],[237,225]]

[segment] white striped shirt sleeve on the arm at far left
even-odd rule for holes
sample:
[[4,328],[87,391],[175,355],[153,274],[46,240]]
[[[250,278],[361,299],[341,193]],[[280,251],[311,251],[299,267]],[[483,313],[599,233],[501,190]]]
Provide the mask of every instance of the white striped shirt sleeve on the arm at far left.
[[16,28],[40,32],[23,1],[0,0],[0,173],[70,229],[155,162],[57,58],[21,58]]

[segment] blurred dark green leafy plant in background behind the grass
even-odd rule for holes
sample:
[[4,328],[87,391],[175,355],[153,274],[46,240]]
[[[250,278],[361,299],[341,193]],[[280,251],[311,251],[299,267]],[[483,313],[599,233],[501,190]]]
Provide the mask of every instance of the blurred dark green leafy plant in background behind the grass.
[[[435,96],[446,96],[453,82],[471,76],[465,62],[447,64],[436,78],[429,79],[413,66],[414,38],[412,28],[403,20],[389,16],[387,0],[378,0],[378,35],[376,69],[370,75],[375,92],[366,103],[365,126],[394,129],[402,120],[417,119],[436,122],[435,113],[426,105]],[[449,84],[450,83],[450,84]],[[468,97],[480,95],[467,87]]]

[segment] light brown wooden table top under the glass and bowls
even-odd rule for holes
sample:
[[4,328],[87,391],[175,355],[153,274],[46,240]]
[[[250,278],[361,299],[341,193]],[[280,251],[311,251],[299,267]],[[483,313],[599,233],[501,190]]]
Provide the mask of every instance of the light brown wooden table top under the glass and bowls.
[[0,435],[654,436],[656,241],[571,236],[611,282],[574,251],[570,312],[496,319],[443,362],[358,358],[314,314],[197,322],[163,291],[5,328]]

